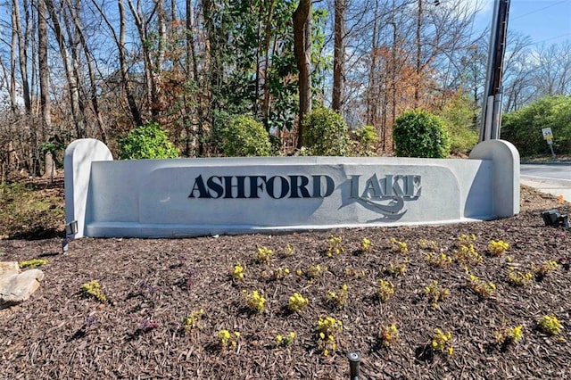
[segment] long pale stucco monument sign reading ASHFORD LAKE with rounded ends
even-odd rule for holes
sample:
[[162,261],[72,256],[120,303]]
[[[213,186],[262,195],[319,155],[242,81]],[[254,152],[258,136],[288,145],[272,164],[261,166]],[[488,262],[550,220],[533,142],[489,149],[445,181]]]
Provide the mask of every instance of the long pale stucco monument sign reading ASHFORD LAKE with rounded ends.
[[[519,212],[519,155],[480,143],[468,160],[252,157],[113,161],[95,139],[65,153],[70,237],[180,237],[401,226]],[[75,227],[75,226],[74,226]]]

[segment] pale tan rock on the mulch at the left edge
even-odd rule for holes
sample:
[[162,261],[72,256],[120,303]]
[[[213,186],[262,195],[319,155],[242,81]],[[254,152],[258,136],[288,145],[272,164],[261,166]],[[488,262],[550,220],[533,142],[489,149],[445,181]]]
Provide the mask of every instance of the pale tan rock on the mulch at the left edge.
[[39,269],[20,271],[15,261],[0,262],[0,305],[9,306],[29,299],[44,279]]

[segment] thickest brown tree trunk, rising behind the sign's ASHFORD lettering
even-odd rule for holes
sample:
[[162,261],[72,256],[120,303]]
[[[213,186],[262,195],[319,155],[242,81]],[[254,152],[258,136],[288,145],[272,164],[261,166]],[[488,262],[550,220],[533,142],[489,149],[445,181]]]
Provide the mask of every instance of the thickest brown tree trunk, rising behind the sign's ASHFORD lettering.
[[299,70],[300,112],[297,146],[305,135],[303,116],[311,112],[311,0],[300,0],[294,11],[294,56]]

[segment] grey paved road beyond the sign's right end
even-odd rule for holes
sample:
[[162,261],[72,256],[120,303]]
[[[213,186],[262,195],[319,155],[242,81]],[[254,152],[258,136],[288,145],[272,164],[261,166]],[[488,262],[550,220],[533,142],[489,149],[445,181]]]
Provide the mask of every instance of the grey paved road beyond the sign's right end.
[[522,164],[519,173],[523,185],[533,186],[543,193],[561,194],[566,201],[571,201],[571,162]]

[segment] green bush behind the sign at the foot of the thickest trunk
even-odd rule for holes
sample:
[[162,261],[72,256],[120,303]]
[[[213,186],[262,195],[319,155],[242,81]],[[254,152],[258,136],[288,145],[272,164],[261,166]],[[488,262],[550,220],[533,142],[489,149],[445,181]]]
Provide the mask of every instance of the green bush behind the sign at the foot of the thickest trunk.
[[311,155],[351,155],[351,139],[345,120],[337,112],[319,107],[303,120],[303,145]]

